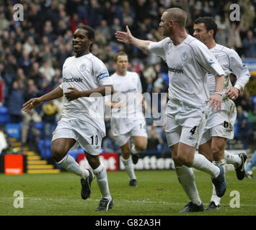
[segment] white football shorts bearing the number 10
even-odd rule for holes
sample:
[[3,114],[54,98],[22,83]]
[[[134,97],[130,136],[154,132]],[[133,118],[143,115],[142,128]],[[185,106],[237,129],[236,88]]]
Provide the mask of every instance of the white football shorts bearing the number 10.
[[71,149],[84,149],[89,155],[99,155],[102,152],[102,137],[97,129],[86,121],[79,119],[61,119],[53,132],[53,140],[58,138],[72,138],[76,144]]

